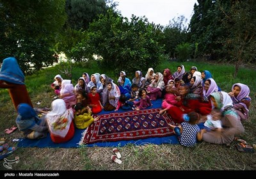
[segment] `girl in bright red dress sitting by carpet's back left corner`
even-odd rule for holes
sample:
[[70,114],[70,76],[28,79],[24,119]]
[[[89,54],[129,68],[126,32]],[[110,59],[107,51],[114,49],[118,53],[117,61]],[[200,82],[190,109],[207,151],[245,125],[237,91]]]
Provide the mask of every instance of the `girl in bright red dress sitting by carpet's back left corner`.
[[92,113],[93,114],[100,113],[100,111],[102,111],[103,109],[103,106],[100,102],[100,95],[99,93],[97,93],[97,87],[92,86],[90,91],[91,92],[88,94],[88,98],[89,98],[89,106],[92,107]]

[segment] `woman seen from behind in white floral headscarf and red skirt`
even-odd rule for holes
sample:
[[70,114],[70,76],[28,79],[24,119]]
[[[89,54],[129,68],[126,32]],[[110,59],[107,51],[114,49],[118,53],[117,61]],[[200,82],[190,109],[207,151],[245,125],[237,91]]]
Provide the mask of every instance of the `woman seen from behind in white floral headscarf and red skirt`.
[[48,130],[54,143],[65,143],[74,136],[74,111],[67,109],[63,99],[56,99],[51,104],[52,111],[46,114]]

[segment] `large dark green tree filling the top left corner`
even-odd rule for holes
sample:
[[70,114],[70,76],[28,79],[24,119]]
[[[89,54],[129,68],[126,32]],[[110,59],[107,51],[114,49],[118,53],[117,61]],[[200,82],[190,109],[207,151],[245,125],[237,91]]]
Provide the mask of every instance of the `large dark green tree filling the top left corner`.
[[55,37],[65,19],[65,0],[1,0],[1,61],[15,56],[26,73],[51,65]]

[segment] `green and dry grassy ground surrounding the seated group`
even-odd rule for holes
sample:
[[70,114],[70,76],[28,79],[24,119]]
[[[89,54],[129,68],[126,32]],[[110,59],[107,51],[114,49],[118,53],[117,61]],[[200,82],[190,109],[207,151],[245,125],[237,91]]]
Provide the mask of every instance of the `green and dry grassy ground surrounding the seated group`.
[[[170,68],[172,72],[180,63],[166,61],[157,66],[155,72],[163,72],[164,68]],[[242,139],[249,144],[256,144],[256,81],[255,70],[241,68],[237,78],[234,79],[234,66],[228,64],[209,64],[204,62],[189,61],[182,63],[186,71],[190,66],[197,66],[199,71],[209,70],[223,91],[230,91],[232,84],[242,82],[250,87],[252,104],[250,108],[250,120],[244,121],[245,128]],[[35,107],[50,107],[52,95],[50,84],[56,74],[61,74],[60,66],[47,68],[35,75],[26,77],[26,85],[33,104],[42,101]],[[255,69],[255,68],[254,68]],[[118,74],[106,70],[99,70],[97,66],[90,65],[83,68],[74,66],[72,82],[83,72],[93,74],[107,74],[109,77],[118,78]],[[145,75],[145,72],[143,72]],[[64,74],[61,74],[65,78]],[[115,76],[114,76],[115,75]],[[132,79],[132,76],[128,76]],[[7,137],[10,146],[16,146],[12,139],[22,137],[18,130],[12,134],[5,134],[4,129],[15,125],[17,113],[8,95],[7,89],[0,89],[0,137]],[[18,164],[12,164],[14,170],[255,170],[256,154],[238,152],[234,143],[230,146],[209,144],[201,142],[193,148],[186,148],[178,144],[145,144],[136,146],[128,144],[119,148],[122,155],[122,164],[112,162],[113,148],[109,147],[81,147],[81,148],[18,148],[8,159],[19,157]],[[0,170],[6,170],[0,161]]]

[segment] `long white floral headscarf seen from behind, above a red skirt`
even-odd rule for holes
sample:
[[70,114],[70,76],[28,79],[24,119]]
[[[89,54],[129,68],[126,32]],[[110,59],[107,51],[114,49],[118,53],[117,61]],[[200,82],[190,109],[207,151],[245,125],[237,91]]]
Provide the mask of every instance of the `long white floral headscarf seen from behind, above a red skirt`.
[[45,116],[49,131],[54,136],[64,138],[67,136],[70,124],[74,119],[73,109],[67,109],[65,101],[61,98],[52,101],[51,107],[52,111]]

